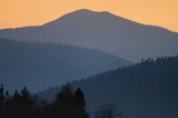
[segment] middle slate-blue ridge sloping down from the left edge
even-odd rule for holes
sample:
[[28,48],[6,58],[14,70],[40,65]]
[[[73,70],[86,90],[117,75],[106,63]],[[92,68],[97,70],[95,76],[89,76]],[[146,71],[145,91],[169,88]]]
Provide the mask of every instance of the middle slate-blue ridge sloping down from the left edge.
[[131,62],[116,56],[61,43],[0,39],[0,83],[31,91],[116,69]]

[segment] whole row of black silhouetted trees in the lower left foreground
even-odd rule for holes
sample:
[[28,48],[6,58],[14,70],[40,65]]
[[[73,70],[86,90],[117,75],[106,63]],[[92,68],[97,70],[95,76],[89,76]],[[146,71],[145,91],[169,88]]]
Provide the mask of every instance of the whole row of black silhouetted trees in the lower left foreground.
[[89,118],[86,101],[80,88],[72,90],[70,85],[61,87],[53,102],[38,100],[24,87],[13,95],[0,87],[0,118]]

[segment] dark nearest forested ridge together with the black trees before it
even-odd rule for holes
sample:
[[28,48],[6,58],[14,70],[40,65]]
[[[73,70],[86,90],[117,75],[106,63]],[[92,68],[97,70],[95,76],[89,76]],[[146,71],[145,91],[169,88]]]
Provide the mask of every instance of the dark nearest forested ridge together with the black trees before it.
[[[9,94],[1,86],[0,118],[122,118],[122,114],[127,118],[175,118],[177,78],[176,56],[149,58],[36,95],[26,87]],[[112,106],[99,107],[108,102]]]

